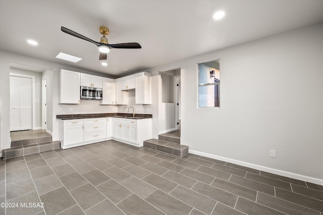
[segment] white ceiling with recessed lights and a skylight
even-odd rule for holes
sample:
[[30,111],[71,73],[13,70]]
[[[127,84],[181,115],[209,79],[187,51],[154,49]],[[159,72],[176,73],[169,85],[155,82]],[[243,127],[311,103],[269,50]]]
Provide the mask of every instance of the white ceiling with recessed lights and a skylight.
[[[219,10],[225,17],[213,20]],[[0,0],[0,49],[120,77],[321,22],[322,0]],[[138,42],[142,48],[111,49],[109,65],[102,66],[94,44],[61,26],[94,41],[106,26],[110,44]],[[57,59],[59,52],[83,59]]]

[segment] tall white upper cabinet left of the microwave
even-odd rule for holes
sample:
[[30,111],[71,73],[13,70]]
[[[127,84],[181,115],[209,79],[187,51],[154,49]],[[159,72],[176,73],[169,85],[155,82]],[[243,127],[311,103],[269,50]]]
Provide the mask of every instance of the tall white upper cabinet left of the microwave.
[[76,71],[61,69],[59,87],[60,104],[80,103],[80,78],[81,74]]

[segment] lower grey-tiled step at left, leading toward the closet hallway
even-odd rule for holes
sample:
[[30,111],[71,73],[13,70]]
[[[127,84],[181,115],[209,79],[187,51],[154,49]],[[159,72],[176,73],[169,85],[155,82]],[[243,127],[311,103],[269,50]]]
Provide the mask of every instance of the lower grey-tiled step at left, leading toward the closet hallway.
[[40,152],[56,150],[60,148],[61,148],[60,141],[48,141],[48,142],[41,142],[38,144],[25,145],[25,146],[5,149],[2,151],[2,155],[3,155],[3,159],[6,160],[10,158],[25,156],[25,155],[31,155],[31,154],[36,154]]

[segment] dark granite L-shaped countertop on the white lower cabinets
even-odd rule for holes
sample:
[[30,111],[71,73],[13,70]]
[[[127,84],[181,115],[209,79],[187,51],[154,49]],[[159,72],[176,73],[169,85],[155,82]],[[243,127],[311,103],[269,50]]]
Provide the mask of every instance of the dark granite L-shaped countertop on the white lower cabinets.
[[86,118],[101,118],[101,117],[121,117],[129,119],[147,119],[152,118],[152,114],[137,113],[132,116],[131,113],[88,113],[88,114],[64,114],[56,115],[57,119],[86,119]]

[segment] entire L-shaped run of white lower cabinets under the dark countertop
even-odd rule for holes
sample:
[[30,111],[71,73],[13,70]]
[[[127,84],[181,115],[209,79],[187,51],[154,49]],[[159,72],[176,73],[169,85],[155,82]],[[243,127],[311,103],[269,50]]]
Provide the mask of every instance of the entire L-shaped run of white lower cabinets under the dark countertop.
[[93,144],[115,139],[136,147],[151,139],[151,118],[129,119],[118,117],[59,120],[61,148]]

